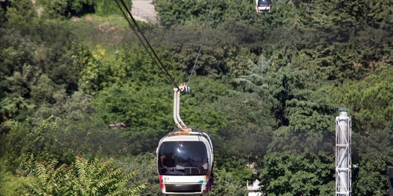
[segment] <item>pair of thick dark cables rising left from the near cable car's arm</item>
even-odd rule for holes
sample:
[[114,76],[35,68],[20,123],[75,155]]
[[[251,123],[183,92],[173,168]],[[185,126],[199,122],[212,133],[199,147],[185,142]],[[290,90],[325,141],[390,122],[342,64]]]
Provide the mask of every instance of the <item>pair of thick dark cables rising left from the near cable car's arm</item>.
[[[158,57],[156,51],[154,51],[153,47],[151,46],[149,40],[147,40],[145,34],[143,34],[141,28],[139,27],[138,23],[136,22],[136,20],[135,20],[134,17],[132,16],[132,14],[131,14],[130,10],[128,9],[127,5],[125,4],[124,0],[120,0],[120,2],[121,2],[121,4],[123,4],[124,9],[125,9],[125,10],[127,11],[127,13],[129,14],[130,18],[132,19],[132,22],[134,22],[136,28],[138,29],[138,31],[140,32],[141,36],[142,36],[143,39],[145,40],[146,44],[149,46],[149,48],[151,49],[152,53],[153,53],[154,56],[156,57],[157,61],[158,61],[159,64],[161,65],[161,67],[162,67],[162,69],[163,69],[164,75],[167,76],[168,80],[169,80],[177,89],[179,89],[179,91],[180,91],[179,86],[176,84],[176,82],[174,82],[174,80],[173,80],[171,74],[169,74],[169,72],[167,71],[167,69],[165,68],[165,66],[163,65],[163,63],[161,62],[160,58]],[[125,13],[123,12],[123,9],[121,8],[121,6],[120,6],[119,3],[117,2],[117,0],[116,0],[116,3],[118,4],[119,8],[121,9],[121,12],[122,12],[123,15],[125,16],[127,22],[129,22],[129,25],[130,25],[130,27],[132,28],[132,30],[134,30],[134,32],[138,35],[138,33],[136,32],[136,29],[133,28],[131,22],[128,20],[127,16],[126,16]],[[140,37],[138,36],[138,38],[140,38]],[[143,41],[142,41],[141,38],[140,38],[139,40],[143,43]],[[143,44],[143,45],[144,45],[144,44]],[[144,45],[144,46],[145,46],[145,45]],[[147,49],[147,47],[145,47],[145,49],[149,52],[149,50]],[[151,54],[151,53],[149,53],[149,54]],[[152,55],[151,55],[151,57],[152,57]],[[152,59],[154,60],[153,57],[152,57]],[[157,64],[157,62],[156,62],[155,60],[154,60],[154,62]],[[157,65],[158,65],[158,64],[157,64]],[[161,71],[162,71],[162,69],[161,69]]]

